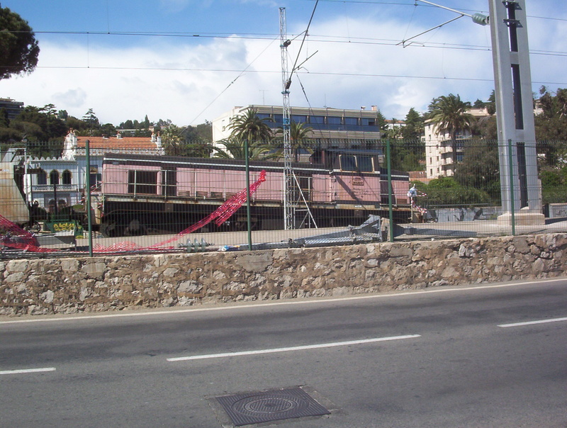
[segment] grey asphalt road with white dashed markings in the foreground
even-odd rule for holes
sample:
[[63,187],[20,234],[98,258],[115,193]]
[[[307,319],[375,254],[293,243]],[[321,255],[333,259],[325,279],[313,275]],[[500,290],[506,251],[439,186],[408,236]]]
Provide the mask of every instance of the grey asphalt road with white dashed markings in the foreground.
[[118,315],[2,319],[0,426],[230,427],[215,397],[305,385],[331,415],[278,426],[567,427],[565,279]]

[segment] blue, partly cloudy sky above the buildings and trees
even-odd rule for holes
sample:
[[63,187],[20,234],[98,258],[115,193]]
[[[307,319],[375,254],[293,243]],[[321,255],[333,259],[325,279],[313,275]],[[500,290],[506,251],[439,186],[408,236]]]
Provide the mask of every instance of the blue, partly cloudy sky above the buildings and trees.
[[[488,1],[433,3],[488,15]],[[296,64],[291,106],[377,106],[386,118],[403,120],[410,108],[427,111],[434,97],[485,101],[494,89],[489,26],[421,1],[0,3],[28,21],[40,45],[38,67],[1,80],[0,97],[52,103],[77,118],[92,108],[101,123],[147,116],[198,125],[235,106],[281,106],[280,8],[291,40],[288,73]],[[564,0],[526,3],[533,91],[566,88]]]

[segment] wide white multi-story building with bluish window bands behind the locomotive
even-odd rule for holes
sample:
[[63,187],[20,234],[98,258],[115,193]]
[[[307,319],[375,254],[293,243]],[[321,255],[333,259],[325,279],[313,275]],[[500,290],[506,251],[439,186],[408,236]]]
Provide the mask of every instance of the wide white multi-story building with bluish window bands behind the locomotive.
[[[253,108],[259,118],[267,119],[266,125],[272,130],[283,127],[283,112],[281,106],[235,107],[213,120],[213,144],[219,145],[220,140],[230,136],[230,120]],[[349,147],[349,148],[378,148],[381,136],[385,132],[378,125],[378,108],[371,110],[345,110],[339,108],[308,108],[291,107],[290,120],[304,123],[305,127],[313,129],[313,140],[316,147]],[[388,124],[401,126],[403,122]]]

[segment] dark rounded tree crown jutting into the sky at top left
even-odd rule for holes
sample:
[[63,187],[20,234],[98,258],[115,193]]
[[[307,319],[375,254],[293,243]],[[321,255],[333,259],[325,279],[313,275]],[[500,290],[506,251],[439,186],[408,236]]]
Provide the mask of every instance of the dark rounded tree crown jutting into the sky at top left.
[[28,21],[0,6],[0,28],[0,79],[33,72],[40,47]]

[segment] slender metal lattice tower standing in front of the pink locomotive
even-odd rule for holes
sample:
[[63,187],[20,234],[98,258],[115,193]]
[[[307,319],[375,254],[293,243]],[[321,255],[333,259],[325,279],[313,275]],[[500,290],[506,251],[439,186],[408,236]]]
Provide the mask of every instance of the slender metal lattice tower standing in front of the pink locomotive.
[[289,86],[291,79],[288,75],[288,46],[286,8],[279,8],[279,31],[281,38],[281,84],[283,95],[283,227],[293,229],[293,170],[291,169],[291,142],[290,142],[290,108]]

